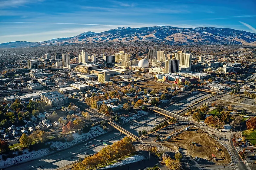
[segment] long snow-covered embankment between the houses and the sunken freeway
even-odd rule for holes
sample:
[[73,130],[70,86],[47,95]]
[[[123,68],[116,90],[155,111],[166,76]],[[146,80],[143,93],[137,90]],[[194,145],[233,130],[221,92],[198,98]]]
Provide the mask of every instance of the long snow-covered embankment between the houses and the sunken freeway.
[[[83,142],[85,140],[90,140],[90,139],[92,139],[96,136],[102,135],[104,133],[107,133],[107,131],[103,130],[100,126],[95,126],[95,127],[92,127],[88,133],[82,133],[81,135],[79,135],[78,133],[73,133],[72,135],[74,136],[74,140],[71,142],[65,142],[65,143],[52,142],[52,145],[50,146],[50,148],[52,149],[52,148],[56,147],[57,150],[67,149],[67,148],[71,147],[72,145]],[[48,143],[50,143],[50,142],[48,142]],[[32,152],[28,152],[28,150],[25,149],[25,150],[23,150],[23,153],[25,153],[25,152],[26,152],[26,154],[23,154],[20,156],[15,156],[14,158],[8,158],[8,159],[6,159],[6,161],[2,160],[2,155],[1,155],[0,168],[6,168],[8,166],[15,165],[18,163],[27,162],[27,161],[33,160],[33,159],[38,159],[40,157],[46,156],[50,153],[53,153],[48,148],[41,149],[38,151],[32,151]]]

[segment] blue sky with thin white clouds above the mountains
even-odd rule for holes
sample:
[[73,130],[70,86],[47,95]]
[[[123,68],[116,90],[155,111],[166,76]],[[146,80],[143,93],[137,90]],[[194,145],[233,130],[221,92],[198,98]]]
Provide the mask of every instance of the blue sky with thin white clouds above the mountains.
[[155,25],[225,27],[256,33],[256,1],[0,0],[0,43]]

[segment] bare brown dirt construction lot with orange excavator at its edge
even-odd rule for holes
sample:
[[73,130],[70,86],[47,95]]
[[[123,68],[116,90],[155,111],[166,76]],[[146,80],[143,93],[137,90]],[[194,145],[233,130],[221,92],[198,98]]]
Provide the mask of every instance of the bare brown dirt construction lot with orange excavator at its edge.
[[[195,131],[197,131],[197,133],[195,133]],[[200,144],[200,146],[195,146],[192,142]],[[177,136],[177,140],[169,140],[163,144],[173,150],[177,150],[178,147],[180,147],[182,152],[185,152],[187,156],[192,156],[193,158],[197,156],[204,159],[203,161],[208,160],[220,165],[227,165],[231,162],[228,151],[209,136],[208,133],[204,133],[197,128],[184,131]],[[217,151],[216,147],[218,147],[220,151]],[[212,158],[212,154],[218,158],[217,161]]]

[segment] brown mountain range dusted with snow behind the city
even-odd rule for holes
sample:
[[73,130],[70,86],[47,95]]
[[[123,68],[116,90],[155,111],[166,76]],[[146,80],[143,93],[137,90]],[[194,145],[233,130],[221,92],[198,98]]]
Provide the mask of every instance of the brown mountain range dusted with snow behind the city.
[[37,47],[42,45],[61,45],[73,43],[103,43],[152,41],[177,45],[193,44],[243,44],[256,46],[256,34],[230,28],[198,27],[178,28],[171,26],[118,27],[95,33],[84,32],[75,37],[56,38],[42,42],[15,41],[1,43],[0,48]]

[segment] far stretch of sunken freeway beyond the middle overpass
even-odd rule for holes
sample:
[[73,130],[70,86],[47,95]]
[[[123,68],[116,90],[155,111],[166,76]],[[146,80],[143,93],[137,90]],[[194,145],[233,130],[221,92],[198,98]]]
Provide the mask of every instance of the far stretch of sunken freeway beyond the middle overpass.
[[165,107],[167,111],[172,111],[173,113],[178,113],[179,111],[185,109],[186,107],[190,106],[192,103],[195,103],[195,101],[199,101],[200,99],[203,99],[205,97],[211,96],[211,94],[206,93],[198,93],[194,96],[191,96],[189,98],[186,98],[182,101],[179,101],[175,104],[172,104],[171,106]]

